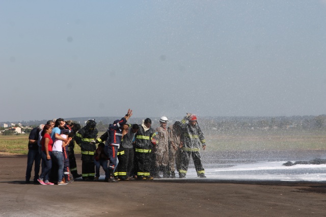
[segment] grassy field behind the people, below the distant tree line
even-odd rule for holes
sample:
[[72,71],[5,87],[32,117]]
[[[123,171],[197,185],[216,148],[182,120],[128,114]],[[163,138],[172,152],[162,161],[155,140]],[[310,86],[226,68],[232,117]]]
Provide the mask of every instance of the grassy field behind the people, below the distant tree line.
[[[326,149],[324,131],[205,132],[205,137],[207,150],[211,151]],[[0,153],[27,154],[28,135],[0,135]],[[75,153],[80,153],[78,145],[75,145]]]

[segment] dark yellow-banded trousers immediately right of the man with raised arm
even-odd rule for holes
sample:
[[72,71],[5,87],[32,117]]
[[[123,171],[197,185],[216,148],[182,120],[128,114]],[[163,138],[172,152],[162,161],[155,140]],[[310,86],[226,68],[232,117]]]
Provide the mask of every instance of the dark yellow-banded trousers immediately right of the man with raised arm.
[[133,168],[133,148],[120,147],[119,152],[118,176],[120,179],[125,179],[131,175]]

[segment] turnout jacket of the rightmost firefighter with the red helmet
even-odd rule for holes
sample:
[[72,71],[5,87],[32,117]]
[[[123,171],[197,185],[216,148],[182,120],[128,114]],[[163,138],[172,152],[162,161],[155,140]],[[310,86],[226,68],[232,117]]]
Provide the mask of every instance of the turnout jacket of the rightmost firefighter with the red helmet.
[[185,120],[182,120],[181,130],[180,141],[183,143],[181,148],[183,151],[199,151],[200,144],[206,145],[204,134],[198,124],[192,126],[190,123],[186,124]]

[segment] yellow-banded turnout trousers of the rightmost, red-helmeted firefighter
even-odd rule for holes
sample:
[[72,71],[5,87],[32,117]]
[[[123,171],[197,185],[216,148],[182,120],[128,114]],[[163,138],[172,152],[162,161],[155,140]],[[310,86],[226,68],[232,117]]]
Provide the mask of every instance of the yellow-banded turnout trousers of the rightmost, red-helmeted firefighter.
[[188,166],[189,166],[190,155],[193,157],[197,175],[199,176],[200,174],[204,174],[205,171],[204,171],[204,168],[203,168],[203,165],[202,165],[202,161],[200,159],[200,153],[198,151],[184,151],[182,149],[180,151],[179,174],[180,173],[183,173],[183,174],[187,173]]

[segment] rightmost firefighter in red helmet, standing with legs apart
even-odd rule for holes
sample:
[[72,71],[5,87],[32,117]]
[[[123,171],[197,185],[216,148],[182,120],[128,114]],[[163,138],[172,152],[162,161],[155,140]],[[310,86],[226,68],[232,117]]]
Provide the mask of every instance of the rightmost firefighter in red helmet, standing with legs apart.
[[187,113],[187,116],[181,121],[181,131],[179,177],[185,178],[190,155],[192,155],[197,175],[200,178],[206,178],[199,153],[200,144],[202,144],[203,150],[205,150],[206,143],[204,134],[198,125],[197,116]]

